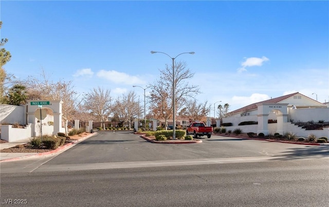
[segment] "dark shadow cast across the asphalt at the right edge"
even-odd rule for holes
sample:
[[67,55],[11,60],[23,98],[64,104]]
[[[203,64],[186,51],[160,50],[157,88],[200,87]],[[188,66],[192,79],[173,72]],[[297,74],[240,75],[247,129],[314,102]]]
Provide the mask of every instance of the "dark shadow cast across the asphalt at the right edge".
[[[282,152],[285,155],[273,156],[272,160],[295,160],[295,159],[305,159],[307,157],[329,157],[329,147],[327,146],[306,146],[305,148],[290,148],[289,151]],[[275,158],[280,157],[280,158]],[[283,158],[282,158],[283,157]]]

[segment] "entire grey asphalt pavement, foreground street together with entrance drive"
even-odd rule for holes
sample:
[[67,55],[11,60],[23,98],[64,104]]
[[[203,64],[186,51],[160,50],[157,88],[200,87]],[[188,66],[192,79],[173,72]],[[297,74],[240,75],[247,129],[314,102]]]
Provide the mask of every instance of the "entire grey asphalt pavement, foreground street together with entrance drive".
[[329,147],[212,136],[152,144],[98,134],[1,163],[1,206],[327,206]]

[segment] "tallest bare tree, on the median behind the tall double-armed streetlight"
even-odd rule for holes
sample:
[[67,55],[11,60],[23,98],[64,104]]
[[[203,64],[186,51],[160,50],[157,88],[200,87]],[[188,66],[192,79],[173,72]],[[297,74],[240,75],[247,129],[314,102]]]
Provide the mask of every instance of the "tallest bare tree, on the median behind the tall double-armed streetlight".
[[199,87],[190,85],[187,80],[193,78],[194,73],[187,68],[185,62],[175,62],[174,64],[174,83],[172,66],[166,64],[166,68],[160,71],[160,78],[151,84],[150,109],[154,116],[159,119],[167,120],[173,117],[173,84],[175,85],[175,106],[178,111],[185,105],[188,98],[193,98],[200,93]]

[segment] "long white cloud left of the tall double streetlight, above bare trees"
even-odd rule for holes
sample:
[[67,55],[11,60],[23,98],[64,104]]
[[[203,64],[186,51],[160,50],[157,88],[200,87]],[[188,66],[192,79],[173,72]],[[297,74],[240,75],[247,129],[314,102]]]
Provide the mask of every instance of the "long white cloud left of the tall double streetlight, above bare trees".
[[115,70],[100,70],[97,72],[97,77],[109,80],[114,83],[123,83],[127,85],[144,84],[145,82],[136,76],[130,76],[129,74]]

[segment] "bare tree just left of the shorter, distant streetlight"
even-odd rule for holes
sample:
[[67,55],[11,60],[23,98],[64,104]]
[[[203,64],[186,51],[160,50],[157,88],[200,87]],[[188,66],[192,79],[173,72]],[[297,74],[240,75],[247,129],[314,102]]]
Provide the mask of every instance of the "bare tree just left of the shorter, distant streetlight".
[[129,91],[127,94],[123,94],[122,97],[118,97],[115,101],[115,107],[113,112],[118,115],[120,122],[128,122],[129,128],[132,125],[132,121],[138,116],[138,102],[136,101],[136,93]]

